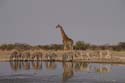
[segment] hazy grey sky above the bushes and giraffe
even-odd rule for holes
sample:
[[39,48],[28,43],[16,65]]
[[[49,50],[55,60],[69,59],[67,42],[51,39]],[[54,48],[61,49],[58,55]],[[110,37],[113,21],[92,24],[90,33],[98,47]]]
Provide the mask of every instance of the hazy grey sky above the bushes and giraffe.
[[57,24],[75,42],[125,41],[125,0],[0,0],[0,44],[60,44]]

